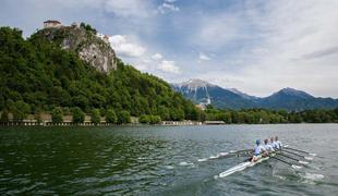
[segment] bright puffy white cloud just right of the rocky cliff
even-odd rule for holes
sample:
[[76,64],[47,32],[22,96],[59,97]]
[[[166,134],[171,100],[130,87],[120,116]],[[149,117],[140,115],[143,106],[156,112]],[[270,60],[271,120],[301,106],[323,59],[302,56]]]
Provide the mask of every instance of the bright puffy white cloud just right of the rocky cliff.
[[111,47],[117,51],[118,54],[125,57],[142,57],[145,52],[145,48],[126,40],[126,36],[114,35],[109,37]]

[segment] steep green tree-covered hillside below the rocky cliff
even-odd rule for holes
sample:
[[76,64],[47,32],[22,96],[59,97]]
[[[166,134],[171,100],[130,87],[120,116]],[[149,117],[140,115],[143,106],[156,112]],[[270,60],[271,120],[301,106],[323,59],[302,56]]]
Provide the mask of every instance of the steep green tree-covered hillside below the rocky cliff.
[[86,113],[98,109],[101,115],[109,109],[162,120],[198,119],[201,111],[162,79],[119,59],[116,70],[100,72],[76,51],[62,49],[43,35],[39,30],[24,39],[17,28],[0,28],[1,111],[39,113],[62,108],[68,113],[76,107]]

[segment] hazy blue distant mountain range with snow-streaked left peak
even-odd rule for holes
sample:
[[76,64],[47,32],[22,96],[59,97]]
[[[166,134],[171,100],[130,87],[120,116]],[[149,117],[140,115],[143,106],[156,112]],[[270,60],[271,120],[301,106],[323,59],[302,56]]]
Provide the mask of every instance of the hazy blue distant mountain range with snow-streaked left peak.
[[333,109],[338,107],[338,99],[314,97],[305,91],[282,88],[268,97],[255,97],[236,88],[222,88],[202,79],[190,79],[171,84],[176,91],[200,105],[213,105],[228,109],[285,109],[302,111],[306,109]]

